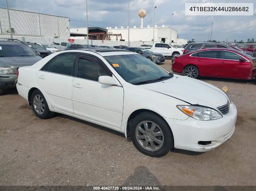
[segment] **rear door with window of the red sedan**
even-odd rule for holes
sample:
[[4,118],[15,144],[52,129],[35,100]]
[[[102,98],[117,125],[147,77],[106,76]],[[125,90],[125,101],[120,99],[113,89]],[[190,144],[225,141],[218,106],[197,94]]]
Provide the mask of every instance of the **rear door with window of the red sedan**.
[[200,76],[218,75],[218,50],[205,50],[191,54],[194,63],[198,66]]

